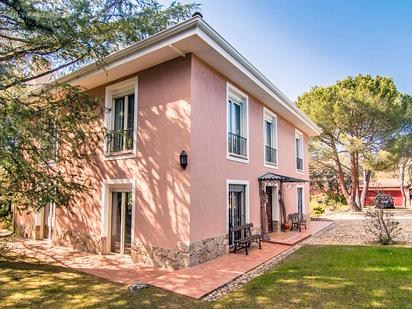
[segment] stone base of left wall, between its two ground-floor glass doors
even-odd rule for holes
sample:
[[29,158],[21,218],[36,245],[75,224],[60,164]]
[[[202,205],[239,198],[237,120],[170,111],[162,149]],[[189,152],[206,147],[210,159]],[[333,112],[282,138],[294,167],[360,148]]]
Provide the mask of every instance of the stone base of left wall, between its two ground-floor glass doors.
[[79,251],[98,254],[102,252],[102,239],[86,233],[75,231],[53,231],[54,245],[73,248]]

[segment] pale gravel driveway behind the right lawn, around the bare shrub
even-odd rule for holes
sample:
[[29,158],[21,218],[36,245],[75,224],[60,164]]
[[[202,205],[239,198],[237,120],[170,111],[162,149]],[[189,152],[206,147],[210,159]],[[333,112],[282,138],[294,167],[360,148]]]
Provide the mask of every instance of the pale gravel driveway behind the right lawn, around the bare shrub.
[[[397,241],[412,246],[412,209],[389,210],[394,219],[400,222],[402,231]],[[327,231],[314,235],[305,243],[313,245],[364,245],[374,242],[375,239],[365,232],[363,221],[364,213],[339,213],[325,216],[323,219],[335,221]]]

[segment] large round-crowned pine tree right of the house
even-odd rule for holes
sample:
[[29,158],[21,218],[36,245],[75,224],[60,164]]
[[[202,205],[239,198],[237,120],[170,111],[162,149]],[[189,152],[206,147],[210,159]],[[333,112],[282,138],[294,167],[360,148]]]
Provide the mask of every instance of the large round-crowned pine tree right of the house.
[[[412,129],[412,100],[387,77],[358,75],[327,87],[314,87],[297,105],[323,132],[315,147],[334,163],[340,189],[348,204],[359,210],[359,169],[375,162],[394,136]],[[351,181],[345,180],[348,163]]]

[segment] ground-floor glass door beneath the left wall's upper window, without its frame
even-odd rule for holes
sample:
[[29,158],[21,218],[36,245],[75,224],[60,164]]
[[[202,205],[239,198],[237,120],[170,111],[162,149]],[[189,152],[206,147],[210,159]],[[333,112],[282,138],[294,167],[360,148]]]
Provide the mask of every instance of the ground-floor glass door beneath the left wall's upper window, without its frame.
[[132,244],[132,194],[112,192],[110,251],[129,254]]

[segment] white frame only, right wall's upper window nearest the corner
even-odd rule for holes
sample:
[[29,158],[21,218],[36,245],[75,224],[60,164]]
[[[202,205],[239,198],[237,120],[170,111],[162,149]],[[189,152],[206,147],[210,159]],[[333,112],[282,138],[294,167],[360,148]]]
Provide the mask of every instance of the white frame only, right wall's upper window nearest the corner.
[[[242,102],[242,131],[246,138],[246,157],[237,156],[229,152],[230,110],[229,99]],[[226,83],[226,158],[231,161],[249,163],[249,97],[230,83]]]

